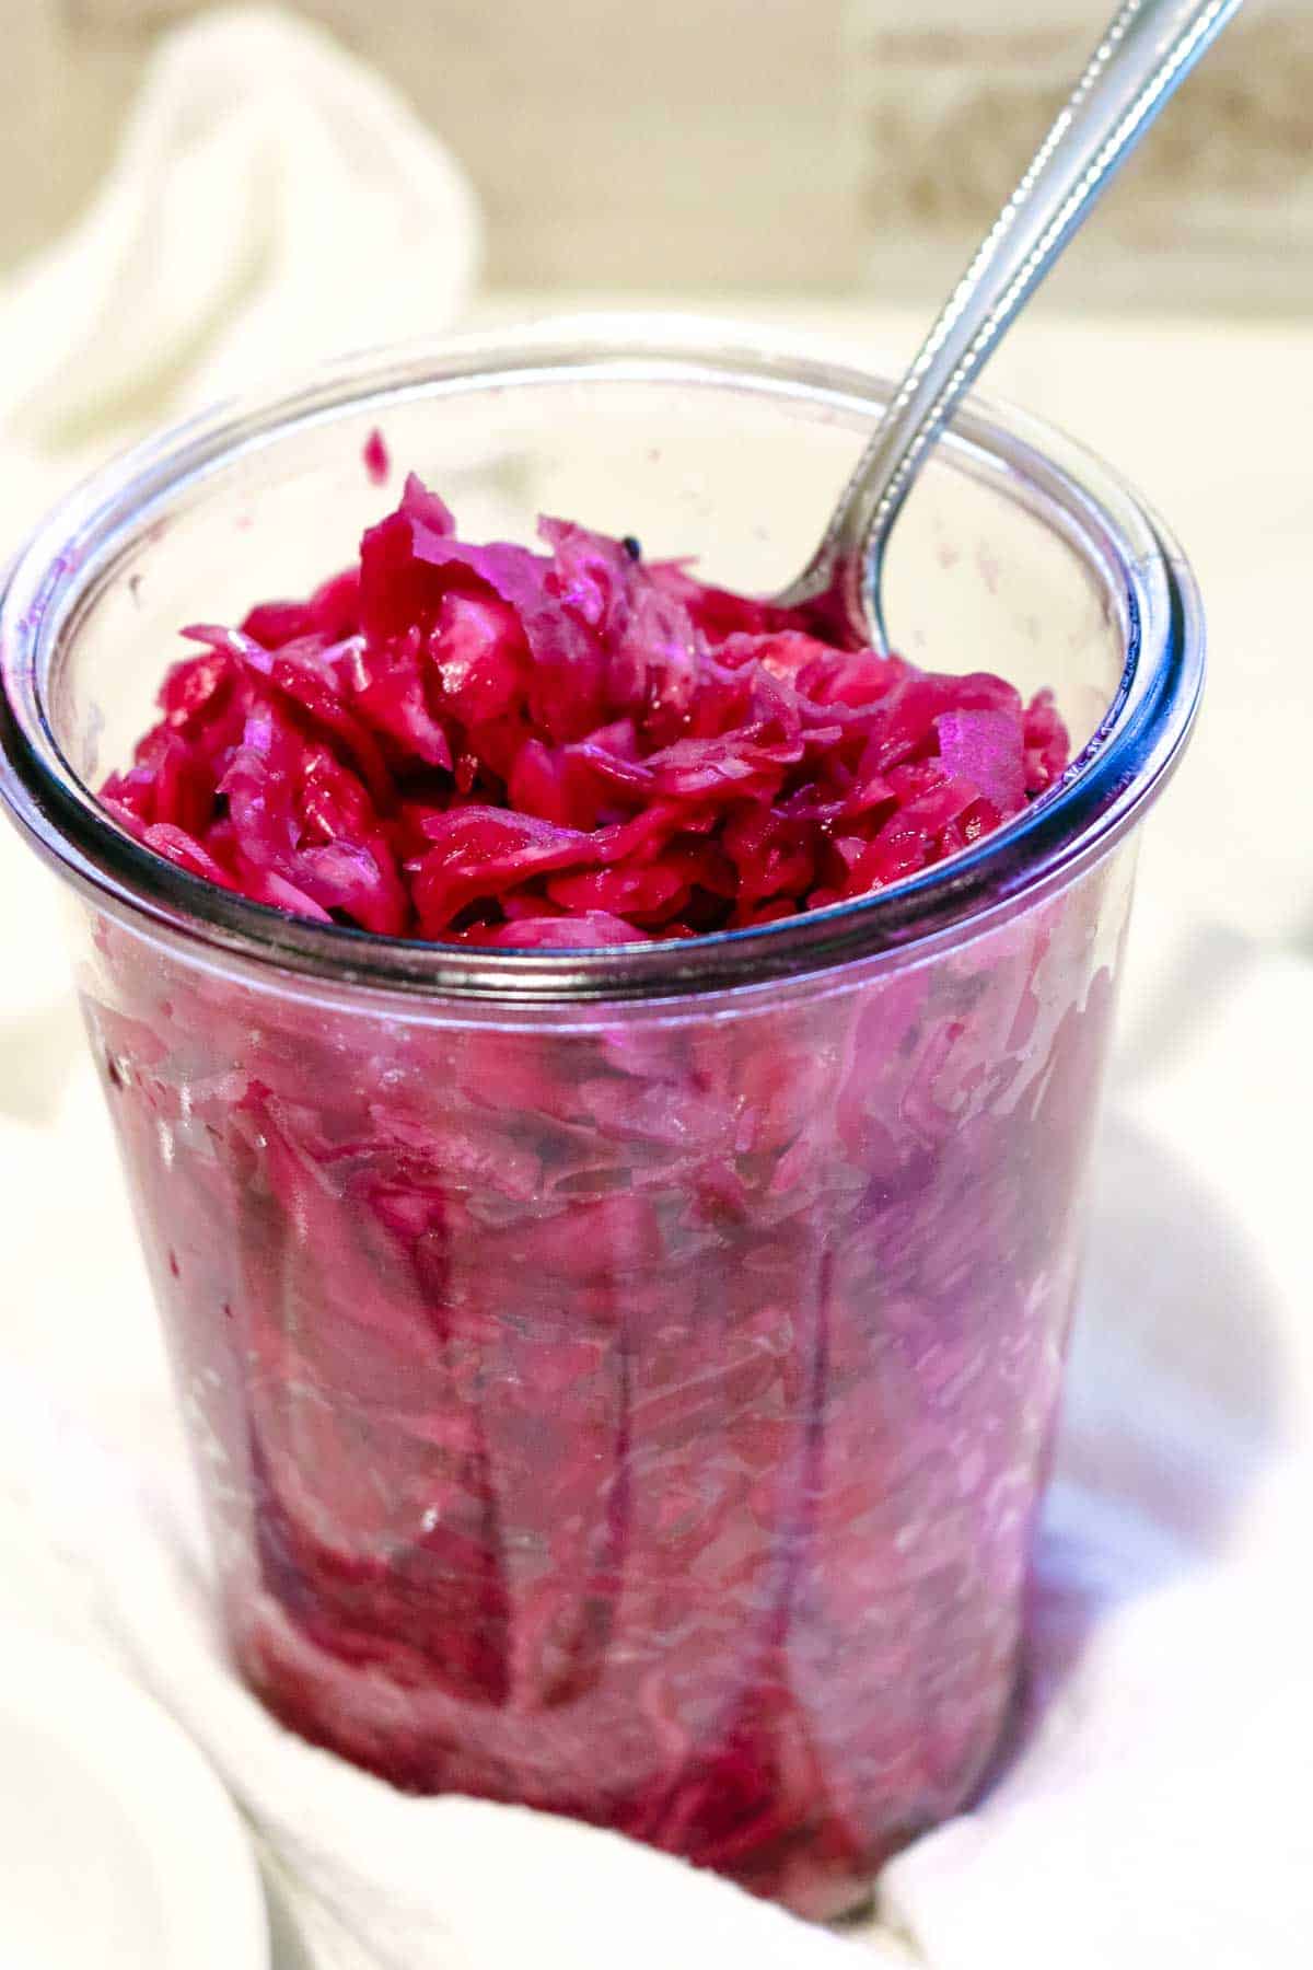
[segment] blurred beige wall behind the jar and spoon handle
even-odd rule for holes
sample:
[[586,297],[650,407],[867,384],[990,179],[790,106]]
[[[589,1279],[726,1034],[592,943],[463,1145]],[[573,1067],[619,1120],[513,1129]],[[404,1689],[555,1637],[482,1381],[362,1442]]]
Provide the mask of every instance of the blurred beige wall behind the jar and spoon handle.
[[[295,0],[445,138],[504,290],[933,299],[1108,0]],[[4,0],[0,270],[106,169],[207,0]],[[1313,8],[1250,0],[1055,276],[1067,303],[1313,301]]]

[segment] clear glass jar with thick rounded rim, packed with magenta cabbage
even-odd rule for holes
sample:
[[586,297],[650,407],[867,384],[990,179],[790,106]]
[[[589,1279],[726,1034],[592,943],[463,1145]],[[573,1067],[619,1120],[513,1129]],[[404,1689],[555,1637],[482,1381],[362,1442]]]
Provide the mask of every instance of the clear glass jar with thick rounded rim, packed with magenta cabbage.
[[829,1917],[1008,1716],[1132,833],[1201,682],[1177,550],[1065,439],[959,418],[890,621],[1051,684],[1079,758],[764,930],[378,940],[195,881],[91,792],[183,623],[354,558],[374,427],[470,538],[545,508],[780,585],[884,386],[654,333],[370,357],[106,471],[8,577],[4,794],[73,898],[250,1684],[402,1787]]

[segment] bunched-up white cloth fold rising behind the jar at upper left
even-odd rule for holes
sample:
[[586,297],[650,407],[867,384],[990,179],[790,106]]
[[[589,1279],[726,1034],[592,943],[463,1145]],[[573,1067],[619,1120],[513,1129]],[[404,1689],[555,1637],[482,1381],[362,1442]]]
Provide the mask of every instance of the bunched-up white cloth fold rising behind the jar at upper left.
[[0,558],[136,429],[449,327],[478,252],[459,164],[325,33],[222,8],[165,35],[91,209],[0,290]]

